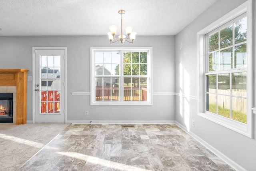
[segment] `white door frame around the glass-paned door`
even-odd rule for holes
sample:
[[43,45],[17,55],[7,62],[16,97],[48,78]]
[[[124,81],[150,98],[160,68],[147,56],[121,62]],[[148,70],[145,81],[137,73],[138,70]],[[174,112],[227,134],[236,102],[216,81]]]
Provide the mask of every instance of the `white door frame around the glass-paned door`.
[[36,50],[64,50],[64,123],[67,123],[67,47],[32,47],[32,121],[36,123]]

